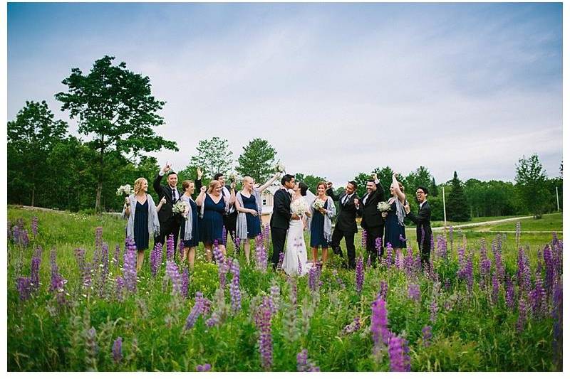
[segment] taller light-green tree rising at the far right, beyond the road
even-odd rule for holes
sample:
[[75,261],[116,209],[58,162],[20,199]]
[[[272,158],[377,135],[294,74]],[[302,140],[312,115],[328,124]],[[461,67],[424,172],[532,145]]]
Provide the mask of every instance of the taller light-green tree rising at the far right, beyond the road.
[[517,181],[517,191],[522,202],[535,218],[541,218],[549,198],[547,179],[537,154],[519,159],[514,180]]

